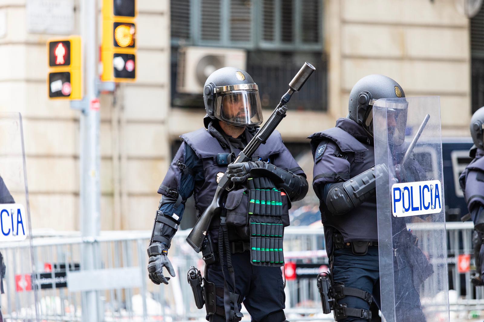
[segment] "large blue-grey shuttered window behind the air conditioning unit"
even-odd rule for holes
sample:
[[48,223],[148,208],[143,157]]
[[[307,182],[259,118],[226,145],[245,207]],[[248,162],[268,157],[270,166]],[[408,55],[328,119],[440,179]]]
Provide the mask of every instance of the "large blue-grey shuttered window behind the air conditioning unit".
[[[303,88],[304,95],[295,95],[289,108],[326,110],[322,9],[322,0],[171,0],[172,105],[203,106],[202,79],[212,65],[229,64],[220,59],[218,65],[215,54],[195,64],[191,59],[189,64],[184,48],[195,46],[213,47],[213,52],[217,48],[241,49],[245,70],[259,85],[262,105],[271,109],[308,61],[317,70]],[[197,83],[196,90],[189,88],[191,82]]]

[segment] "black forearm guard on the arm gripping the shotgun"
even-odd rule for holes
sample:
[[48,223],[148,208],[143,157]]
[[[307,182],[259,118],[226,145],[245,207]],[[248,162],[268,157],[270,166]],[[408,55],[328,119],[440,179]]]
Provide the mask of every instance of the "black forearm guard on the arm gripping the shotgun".
[[[309,186],[304,175],[296,175],[292,172],[278,168],[271,163],[263,163],[263,168],[253,168],[250,170],[250,173],[252,175],[257,174],[259,169],[269,171],[272,174],[271,177],[279,178],[279,180],[273,180],[275,186],[277,188],[284,189],[290,201],[301,200],[306,196]],[[261,174],[261,176],[267,176],[267,174]]]

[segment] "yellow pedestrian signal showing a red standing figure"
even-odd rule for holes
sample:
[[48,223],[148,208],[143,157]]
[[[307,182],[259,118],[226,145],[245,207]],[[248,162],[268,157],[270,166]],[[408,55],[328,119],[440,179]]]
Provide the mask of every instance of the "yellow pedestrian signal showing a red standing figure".
[[47,42],[50,99],[82,99],[81,37],[51,39]]

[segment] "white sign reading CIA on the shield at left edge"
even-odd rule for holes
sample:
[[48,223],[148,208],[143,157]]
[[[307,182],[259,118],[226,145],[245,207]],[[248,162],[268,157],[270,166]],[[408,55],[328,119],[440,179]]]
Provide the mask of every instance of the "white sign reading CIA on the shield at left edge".
[[0,242],[27,238],[27,213],[21,204],[0,204]]

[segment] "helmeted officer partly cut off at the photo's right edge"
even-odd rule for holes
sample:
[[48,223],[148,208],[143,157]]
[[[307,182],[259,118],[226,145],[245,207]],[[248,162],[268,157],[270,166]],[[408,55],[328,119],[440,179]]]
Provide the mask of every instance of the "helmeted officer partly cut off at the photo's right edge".
[[[459,177],[459,184],[464,191],[470,218],[474,222],[474,253],[476,267],[479,271],[473,277],[474,285],[483,285],[484,273],[484,106],[478,109],[470,119],[470,136],[474,145],[469,151],[473,160]],[[479,254],[478,254],[479,253]]]

